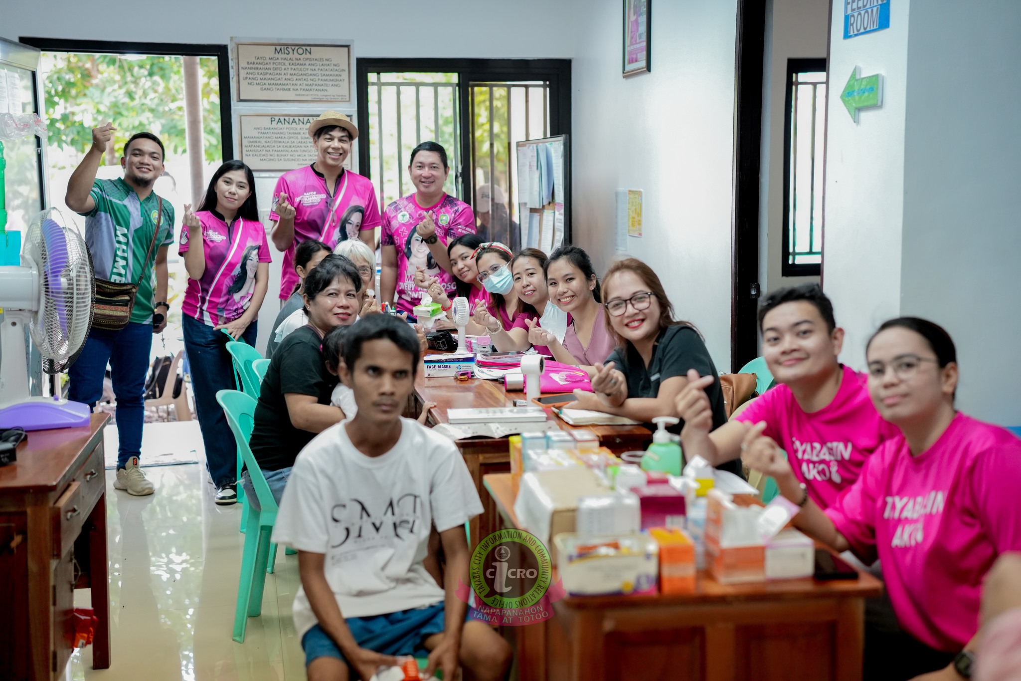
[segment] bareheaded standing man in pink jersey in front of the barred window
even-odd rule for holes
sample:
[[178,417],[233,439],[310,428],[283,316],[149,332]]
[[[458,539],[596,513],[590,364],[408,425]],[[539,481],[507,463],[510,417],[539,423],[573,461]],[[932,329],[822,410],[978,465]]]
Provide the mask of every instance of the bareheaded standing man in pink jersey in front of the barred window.
[[436,142],[411,150],[407,172],[416,191],[383,211],[380,290],[385,302],[410,317],[425,293],[415,285],[419,270],[427,279],[435,277],[453,297],[456,287],[446,247],[459,236],[475,234],[475,213],[443,191],[450,166],[446,150]]

